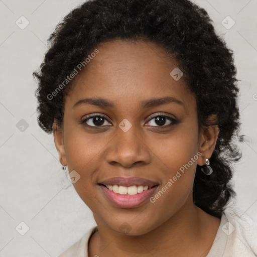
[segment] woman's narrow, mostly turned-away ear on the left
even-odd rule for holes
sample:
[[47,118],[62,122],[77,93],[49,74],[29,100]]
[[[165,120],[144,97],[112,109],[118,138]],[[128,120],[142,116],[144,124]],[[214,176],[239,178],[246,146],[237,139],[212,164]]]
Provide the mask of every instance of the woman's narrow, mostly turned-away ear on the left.
[[53,135],[54,135],[54,144],[56,150],[59,154],[59,161],[62,165],[67,165],[67,160],[64,151],[64,144],[63,144],[63,132],[61,128],[58,126],[56,119],[54,119],[53,123]]

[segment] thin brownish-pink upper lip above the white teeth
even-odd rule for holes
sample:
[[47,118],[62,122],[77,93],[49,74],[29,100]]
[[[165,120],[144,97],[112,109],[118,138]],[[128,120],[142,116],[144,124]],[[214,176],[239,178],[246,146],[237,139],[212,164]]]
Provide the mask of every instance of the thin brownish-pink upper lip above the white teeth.
[[156,181],[152,181],[152,180],[144,179],[140,177],[114,177],[114,178],[109,178],[109,179],[100,181],[98,184],[103,184],[105,186],[118,185],[118,186],[124,186],[124,187],[130,187],[130,186],[153,187],[155,185],[159,185],[159,183]]

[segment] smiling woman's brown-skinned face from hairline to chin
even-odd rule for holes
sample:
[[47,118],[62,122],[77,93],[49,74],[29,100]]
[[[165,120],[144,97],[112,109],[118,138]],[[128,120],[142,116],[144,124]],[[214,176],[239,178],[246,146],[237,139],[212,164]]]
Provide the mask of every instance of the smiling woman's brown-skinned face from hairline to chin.
[[170,75],[178,65],[163,48],[115,40],[97,49],[66,96],[55,144],[97,225],[140,235],[193,205],[196,165],[215,140],[204,152],[211,133],[198,130],[195,97]]

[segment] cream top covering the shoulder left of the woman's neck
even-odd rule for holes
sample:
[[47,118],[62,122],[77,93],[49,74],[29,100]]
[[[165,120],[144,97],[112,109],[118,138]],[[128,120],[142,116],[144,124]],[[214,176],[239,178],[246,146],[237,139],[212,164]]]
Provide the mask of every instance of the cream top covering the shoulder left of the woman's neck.
[[87,246],[90,236],[97,230],[97,226],[89,229],[78,241],[72,244],[67,250],[61,253],[58,257],[88,257]]

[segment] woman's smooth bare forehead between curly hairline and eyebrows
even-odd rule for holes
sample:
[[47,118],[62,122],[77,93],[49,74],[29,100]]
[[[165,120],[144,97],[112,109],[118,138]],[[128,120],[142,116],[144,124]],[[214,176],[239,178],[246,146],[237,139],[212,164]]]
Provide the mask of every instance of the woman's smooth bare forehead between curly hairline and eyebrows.
[[102,97],[131,105],[143,99],[172,96],[187,105],[194,104],[183,76],[179,80],[171,76],[171,72],[179,68],[178,63],[161,46],[115,39],[95,49],[99,52],[77,75],[69,101]]

